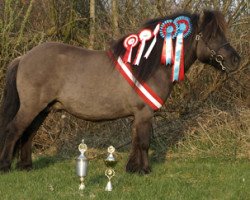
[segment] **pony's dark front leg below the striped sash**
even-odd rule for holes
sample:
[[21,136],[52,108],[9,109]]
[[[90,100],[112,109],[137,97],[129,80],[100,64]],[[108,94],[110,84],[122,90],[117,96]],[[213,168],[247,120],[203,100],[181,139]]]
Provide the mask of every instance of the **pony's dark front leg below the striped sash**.
[[132,128],[132,152],[126,166],[127,172],[148,174],[151,172],[148,149],[152,133],[153,111],[144,108],[136,113]]

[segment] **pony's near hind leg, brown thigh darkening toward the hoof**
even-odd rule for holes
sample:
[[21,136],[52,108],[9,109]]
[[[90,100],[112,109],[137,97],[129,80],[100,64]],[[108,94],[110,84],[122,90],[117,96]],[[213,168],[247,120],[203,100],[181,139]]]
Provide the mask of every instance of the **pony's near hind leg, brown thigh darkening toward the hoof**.
[[[45,106],[46,107],[46,106]],[[41,108],[41,109],[39,109]],[[29,127],[34,118],[43,110],[38,105],[20,106],[14,119],[8,124],[6,129],[6,139],[0,157],[0,170],[9,171],[16,142],[23,132]]]

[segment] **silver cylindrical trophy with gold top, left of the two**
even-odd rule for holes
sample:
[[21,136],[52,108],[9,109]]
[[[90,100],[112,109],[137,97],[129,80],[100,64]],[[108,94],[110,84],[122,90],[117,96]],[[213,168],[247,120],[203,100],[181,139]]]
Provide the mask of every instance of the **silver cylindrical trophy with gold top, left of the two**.
[[88,170],[88,159],[84,155],[84,153],[87,151],[88,147],[84,143],[84,140],[82,140],[82,143],[79,144],[78,149],[79,149],[81,154],[76,159],[76,173],[80,177],[79,190],[83,190],[85,188],[84,178],[85,178],[85,176],[87,176],[87,170]]

